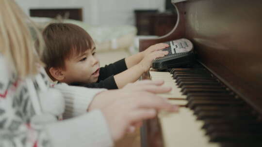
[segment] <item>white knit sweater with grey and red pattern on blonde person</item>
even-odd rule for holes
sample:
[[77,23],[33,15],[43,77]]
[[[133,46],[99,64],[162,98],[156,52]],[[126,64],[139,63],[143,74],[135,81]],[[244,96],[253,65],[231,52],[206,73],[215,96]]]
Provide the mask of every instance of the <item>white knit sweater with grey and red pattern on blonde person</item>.
[[[102,90],[50,88],[43,71],[18,79],[0,55],[0,147],[112,147],[103,114],[86,112]],[[62,113],[64,120],[57,120]]]

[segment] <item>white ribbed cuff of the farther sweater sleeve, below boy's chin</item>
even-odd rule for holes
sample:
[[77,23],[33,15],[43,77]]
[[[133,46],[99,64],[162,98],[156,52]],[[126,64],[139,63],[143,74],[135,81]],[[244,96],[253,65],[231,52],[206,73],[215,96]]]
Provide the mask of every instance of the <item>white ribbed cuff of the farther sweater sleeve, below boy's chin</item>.
[[101,91],[101,88],[85,88],[69,86],[65,83],[57,84],[54,88],[60,90],[65,98],[66,109],[63,118],[72,118],[86,113],[93,98]]

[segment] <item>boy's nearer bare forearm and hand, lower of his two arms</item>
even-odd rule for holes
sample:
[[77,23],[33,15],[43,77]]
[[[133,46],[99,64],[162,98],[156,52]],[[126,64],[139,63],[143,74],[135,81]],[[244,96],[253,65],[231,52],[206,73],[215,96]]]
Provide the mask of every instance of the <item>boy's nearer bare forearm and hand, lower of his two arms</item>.
[[143,73],[149,70],[153,59],[164,57],[167,54],[167,51],[161,50],[149,53],[138,64],[132,66],[122,73],[114,75],[117,87],[123,88],[128,83],[137,81]]

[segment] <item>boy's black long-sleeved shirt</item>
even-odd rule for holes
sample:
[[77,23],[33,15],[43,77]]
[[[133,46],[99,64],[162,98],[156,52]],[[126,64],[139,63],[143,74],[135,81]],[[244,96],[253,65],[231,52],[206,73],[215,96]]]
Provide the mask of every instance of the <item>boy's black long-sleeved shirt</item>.
[[82,86],[87,88],[107,88],[107,89],[118,89],[114,75],[127,70],[125,59],[120,59],[115,63],[101,67],[98,76],[98,82],[96,83],[70,83],[72,86]]

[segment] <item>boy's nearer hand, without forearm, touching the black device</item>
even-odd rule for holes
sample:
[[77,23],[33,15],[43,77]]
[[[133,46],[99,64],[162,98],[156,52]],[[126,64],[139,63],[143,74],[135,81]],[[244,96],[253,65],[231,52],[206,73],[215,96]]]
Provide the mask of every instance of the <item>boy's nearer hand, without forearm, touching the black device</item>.
[[159,57],[164,57],[167,54],[168,54],[168,51],[162,51],[162,50],[151,52],[151,53],[147,54],[144,57],[144,59],[142,59],[138,63],[138,65],[140,65],[141,69],[144,72],[147,72],[150,69],[150,67],[151,67],[153,59],[156,59],[156,58],[159,58]]

